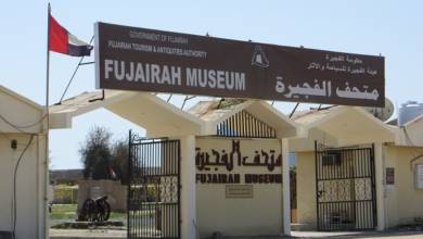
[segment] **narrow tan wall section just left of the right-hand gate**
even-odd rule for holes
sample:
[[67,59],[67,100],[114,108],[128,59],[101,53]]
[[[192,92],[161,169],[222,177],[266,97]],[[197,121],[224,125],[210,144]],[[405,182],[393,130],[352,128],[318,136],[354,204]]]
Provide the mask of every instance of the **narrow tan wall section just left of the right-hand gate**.
[[297,223],[316,229],[316,161],[313,152],[296,153]]

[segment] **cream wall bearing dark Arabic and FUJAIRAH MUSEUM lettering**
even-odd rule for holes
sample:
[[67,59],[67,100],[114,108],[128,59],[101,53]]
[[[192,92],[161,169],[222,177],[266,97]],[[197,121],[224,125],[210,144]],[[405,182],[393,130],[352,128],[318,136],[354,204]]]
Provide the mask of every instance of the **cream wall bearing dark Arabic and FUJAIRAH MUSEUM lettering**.
[[[196,148],[201,152],[232,151],[231,138],[197,138]],[[255,150],[281,153],[280,140],[241,139],[242,156],[253,161]],[[198,150],[197,150],[198,152]],[[214,161],[210,156],[210,161]],[[264,162],[264,159],[261,159]],[[217,169],[216,169],[217,168]],[[198,171],[197,174],[240,174],[239,185],[245,185],[245,174],[282,174],[281,166],[272,172],[264,165],[239,166],[234,161],[233,171],[226,166],[210,166],[210,171]],[[226,186],[230,184],[196,184],[196,218],[197,229],[202,238],[214,231],[226,236],[280,235],[282,232],[282,184],[252,184],[252,198],[226,198]]]

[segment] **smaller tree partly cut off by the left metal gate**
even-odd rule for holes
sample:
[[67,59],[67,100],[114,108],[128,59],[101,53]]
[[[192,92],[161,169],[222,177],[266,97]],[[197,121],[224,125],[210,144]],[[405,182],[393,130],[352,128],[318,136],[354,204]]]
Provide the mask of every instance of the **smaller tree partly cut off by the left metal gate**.
[[123,185],[128,184],[128,139],[117,140],[112,146],[112,167]]

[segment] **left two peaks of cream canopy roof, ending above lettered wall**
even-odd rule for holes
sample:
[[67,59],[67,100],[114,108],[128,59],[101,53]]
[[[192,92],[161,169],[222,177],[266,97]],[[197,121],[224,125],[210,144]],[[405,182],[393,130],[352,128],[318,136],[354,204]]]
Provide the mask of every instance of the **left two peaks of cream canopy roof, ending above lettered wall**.
[[149,92],[106,90],[101,98],[101,91],[85,92],[52,105],[51,128],[69,128],[73,117],[105,108],[145,128],[148,137],[216,135],[220,122],[244,110],[274,128],[278,137],[295,137],[297,133],[297,125],[266,101],[241,100],[225,109],[216,108],[217,101],[205,101],[185,112]]

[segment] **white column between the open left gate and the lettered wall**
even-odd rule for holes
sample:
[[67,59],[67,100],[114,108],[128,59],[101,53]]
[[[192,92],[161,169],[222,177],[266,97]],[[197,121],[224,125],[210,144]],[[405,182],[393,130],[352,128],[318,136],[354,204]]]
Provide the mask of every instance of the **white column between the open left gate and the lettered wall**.
[[181,238],[195,239],[195,136],[181,138]]

